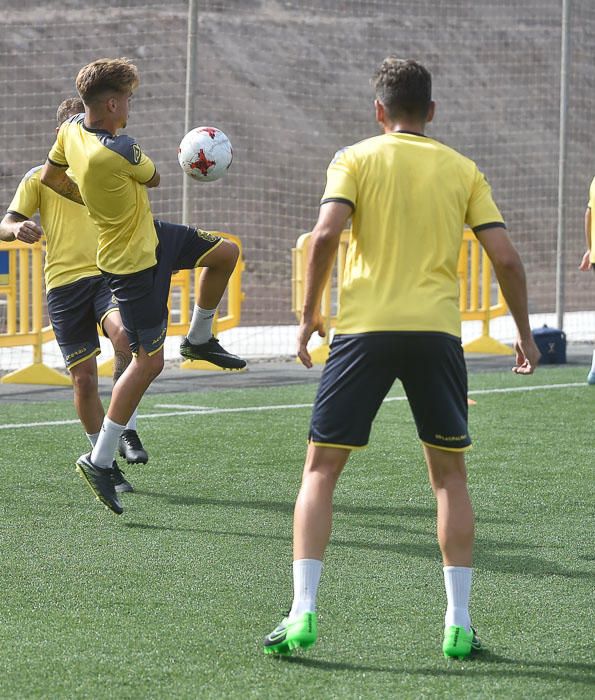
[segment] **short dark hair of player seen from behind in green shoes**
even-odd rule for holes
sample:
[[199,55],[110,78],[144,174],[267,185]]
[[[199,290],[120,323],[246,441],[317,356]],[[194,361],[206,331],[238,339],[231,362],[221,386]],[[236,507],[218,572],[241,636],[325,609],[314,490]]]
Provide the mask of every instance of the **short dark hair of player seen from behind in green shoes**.
[[432,76],[421,63],[387,56],[374,73],[372,85],[391,119],[426,118],[432,101]]

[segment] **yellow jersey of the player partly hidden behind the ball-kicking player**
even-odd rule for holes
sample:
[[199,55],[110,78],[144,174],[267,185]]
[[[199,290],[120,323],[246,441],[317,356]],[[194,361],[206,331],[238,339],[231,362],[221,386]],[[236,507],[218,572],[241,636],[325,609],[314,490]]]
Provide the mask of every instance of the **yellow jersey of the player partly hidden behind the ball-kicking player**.
[[89,212],[42,185],[41,168],[32,168],[21,180],[8,212],[30,219],[39,211],[46,238],[45,288],[49,292],[101,273],[95,264],[97,227]]

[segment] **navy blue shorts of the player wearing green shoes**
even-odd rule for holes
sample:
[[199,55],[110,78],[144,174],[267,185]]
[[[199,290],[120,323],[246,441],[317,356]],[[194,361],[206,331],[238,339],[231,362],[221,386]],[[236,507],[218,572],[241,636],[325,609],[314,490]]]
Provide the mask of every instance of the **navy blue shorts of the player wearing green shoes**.
[[395,379],[400,379],[422,442],[464,450],[467,368],[461,341],[446,333],[386,331],[337,335],[314,403],[310,441],[358,448]]

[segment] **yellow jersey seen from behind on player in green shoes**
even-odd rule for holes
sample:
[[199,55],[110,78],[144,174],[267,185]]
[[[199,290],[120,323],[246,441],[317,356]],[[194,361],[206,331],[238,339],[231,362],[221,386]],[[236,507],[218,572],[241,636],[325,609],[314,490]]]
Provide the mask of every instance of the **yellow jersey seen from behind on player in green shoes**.
[[353,208],[336,332],[459,337],[464,224],[505,226],[475,163],[421,134],[382,134],[338,151],[328,201]]

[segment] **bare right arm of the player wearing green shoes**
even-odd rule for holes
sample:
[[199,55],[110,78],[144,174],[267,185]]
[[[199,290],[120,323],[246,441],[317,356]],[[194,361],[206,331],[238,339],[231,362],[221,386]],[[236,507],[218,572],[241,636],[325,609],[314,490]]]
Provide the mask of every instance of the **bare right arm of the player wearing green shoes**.
[[516,366],[513,367],[513,372],[532,374],[541,353],[535,344],[529,324],[527,280],[521,258],[503,228],[494,227],[478,231],[477,238],[494,266],[498,284],[517,327]]

